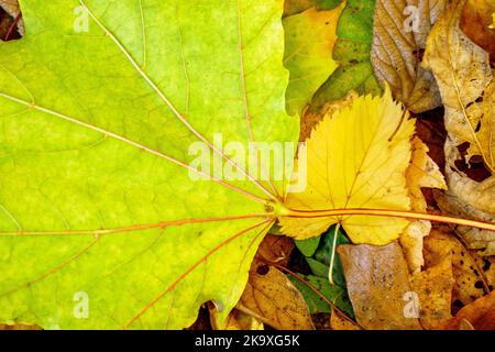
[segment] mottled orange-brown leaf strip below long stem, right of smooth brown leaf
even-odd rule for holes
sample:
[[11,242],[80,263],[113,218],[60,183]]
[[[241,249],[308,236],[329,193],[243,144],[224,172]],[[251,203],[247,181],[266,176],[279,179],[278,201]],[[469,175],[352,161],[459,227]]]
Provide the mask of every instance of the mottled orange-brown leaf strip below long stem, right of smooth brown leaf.
[[[428,268],[416,273],[411,278],[411,288],[419,296],[419,320],[425,329],[443,327],[451,316],[452,288],[452,243],[432,246],[427,238],[425,252],[428,255]],[[433,244],[438,244],[435,242]],[[442,243],[446,244],[446,243]]]

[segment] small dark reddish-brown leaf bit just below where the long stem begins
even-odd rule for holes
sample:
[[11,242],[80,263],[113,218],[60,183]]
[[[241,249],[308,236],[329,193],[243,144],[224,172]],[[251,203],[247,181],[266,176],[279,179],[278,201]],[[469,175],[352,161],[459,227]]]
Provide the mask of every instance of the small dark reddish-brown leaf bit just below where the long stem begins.
[[286,266],[290,252],[294,250],[294,240],[285,235],[267,234],[260,244],[256,258],[267,263],[277,263]]

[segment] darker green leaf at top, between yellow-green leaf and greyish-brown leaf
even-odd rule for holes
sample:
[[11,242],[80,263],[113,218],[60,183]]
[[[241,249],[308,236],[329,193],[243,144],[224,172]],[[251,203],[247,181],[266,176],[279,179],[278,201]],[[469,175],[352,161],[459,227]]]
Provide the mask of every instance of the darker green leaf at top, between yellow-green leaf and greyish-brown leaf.
[[350,90],[360,95],[381,94],[370,58],[374,9],[375,0],[348,0],[339,20],[339,40],[332,54],[339,67],[315,94],[312,111],[320,110],[328,101],[344,98]]

